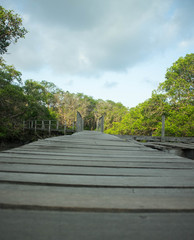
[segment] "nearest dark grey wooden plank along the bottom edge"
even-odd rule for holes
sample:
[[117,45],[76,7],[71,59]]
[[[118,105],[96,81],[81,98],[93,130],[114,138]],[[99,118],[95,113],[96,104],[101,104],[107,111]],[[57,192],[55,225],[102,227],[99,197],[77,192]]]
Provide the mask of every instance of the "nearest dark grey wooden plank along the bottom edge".
[[3,240],[193,240],[193,212],[0,210]]

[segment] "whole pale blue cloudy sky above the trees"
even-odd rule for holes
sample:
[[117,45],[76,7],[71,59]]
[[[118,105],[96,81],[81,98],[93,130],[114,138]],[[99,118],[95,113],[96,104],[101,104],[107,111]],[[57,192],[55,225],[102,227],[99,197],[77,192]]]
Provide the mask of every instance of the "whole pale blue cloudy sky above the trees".
[[194,0],[1,0],[23,19],[25,39],[7,64],[23,81],[135,107],[194,52]]

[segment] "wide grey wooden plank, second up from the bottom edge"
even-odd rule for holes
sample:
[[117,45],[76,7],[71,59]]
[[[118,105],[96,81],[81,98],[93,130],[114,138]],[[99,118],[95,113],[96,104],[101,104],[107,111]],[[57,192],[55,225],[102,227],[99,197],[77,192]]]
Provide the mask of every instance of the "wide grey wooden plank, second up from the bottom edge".
[[59,210],[194,210],[194,189],[122,189],[0,185],[0,205]]

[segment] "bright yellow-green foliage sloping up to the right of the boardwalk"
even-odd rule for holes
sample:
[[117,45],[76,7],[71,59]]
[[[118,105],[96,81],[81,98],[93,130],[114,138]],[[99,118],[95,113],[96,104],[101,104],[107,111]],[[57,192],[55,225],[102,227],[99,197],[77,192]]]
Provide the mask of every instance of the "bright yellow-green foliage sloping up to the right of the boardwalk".
[[152,97],[113,123],[111,134],[161,136],[162,115],[166,136],[194,136],[194,54],[179,58],[167,70],[166,80]]

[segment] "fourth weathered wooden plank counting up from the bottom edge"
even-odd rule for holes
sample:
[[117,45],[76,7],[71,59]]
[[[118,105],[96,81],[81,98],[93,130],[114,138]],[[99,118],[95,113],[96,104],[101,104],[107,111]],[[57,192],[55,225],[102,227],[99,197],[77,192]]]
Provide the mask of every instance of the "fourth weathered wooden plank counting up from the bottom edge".
[[117,168],[86,166],[48,166],[27,164],[0,164],[0,172],[45,173],[61,175],[94,175],[94,176],[156,176],[156,177],[193,177],[193,169],[156,169],[156,168]]

